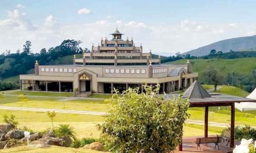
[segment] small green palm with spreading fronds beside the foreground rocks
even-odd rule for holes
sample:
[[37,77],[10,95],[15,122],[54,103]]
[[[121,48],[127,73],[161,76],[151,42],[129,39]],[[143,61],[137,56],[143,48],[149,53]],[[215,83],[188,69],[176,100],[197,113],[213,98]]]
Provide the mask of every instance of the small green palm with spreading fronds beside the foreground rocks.
[[74,128],[70,127],[69,124],[60,124],[56,129],[57,135],[60,137],[70,137],[76,140]]

